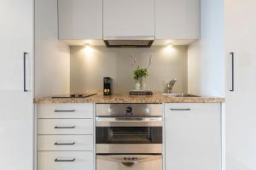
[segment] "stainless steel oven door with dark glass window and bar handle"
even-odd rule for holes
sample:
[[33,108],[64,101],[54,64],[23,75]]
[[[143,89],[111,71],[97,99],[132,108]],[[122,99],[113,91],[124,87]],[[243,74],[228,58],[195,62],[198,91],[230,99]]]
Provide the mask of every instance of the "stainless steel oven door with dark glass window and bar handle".
[[96,117],[96,153],[162,153],[162,117]]

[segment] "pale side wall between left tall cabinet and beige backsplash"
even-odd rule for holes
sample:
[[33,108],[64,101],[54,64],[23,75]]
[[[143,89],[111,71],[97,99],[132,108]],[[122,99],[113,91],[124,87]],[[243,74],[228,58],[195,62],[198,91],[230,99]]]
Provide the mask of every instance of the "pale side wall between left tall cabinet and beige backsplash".
[[36,0],[35,17],[35,97],[69,94],[70,52],[58,41],[57,0]]

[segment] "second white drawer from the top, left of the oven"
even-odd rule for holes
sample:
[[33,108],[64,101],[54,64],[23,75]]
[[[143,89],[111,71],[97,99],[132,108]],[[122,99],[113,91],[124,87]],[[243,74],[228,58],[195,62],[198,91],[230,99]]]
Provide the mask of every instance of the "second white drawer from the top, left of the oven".
[[38,134],[93,134],[93,120],[38,119]]

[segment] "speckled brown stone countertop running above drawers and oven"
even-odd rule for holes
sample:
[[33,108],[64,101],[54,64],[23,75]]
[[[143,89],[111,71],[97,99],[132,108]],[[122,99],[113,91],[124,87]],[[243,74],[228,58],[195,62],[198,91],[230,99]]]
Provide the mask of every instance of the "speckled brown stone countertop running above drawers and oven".
[[36,104],[54,103],[223,103],[224,98],[215,97],[166,97],[163,94],[153,94],[152,96],[130,96],[129,94],[113,94],[103,96],[96,94],[88,98],[61,98],[52,99],[51,97],[36,98]]

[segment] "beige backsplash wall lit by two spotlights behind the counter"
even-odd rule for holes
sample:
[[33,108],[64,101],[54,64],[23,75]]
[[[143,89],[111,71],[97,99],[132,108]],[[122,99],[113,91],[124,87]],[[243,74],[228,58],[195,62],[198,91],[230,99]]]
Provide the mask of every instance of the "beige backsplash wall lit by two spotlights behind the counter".
[[186,93],[188,81],[187,46],[168,48],[106,48],[92,47],[90,53],[84,47],[71,47],[71,92],[102,92],[102,77],[113,78],[113,92],[127,93],[134,88],[130,54],[140,65],[148,65],[150,54],[154,59],[149,68],[147,88],[163,92],[166,83],[177,78],[174,93]]

